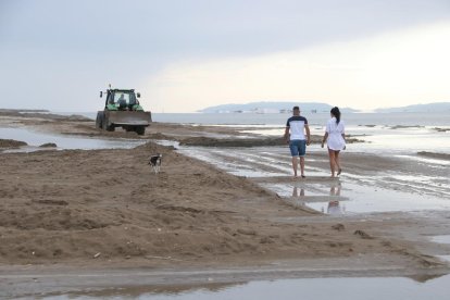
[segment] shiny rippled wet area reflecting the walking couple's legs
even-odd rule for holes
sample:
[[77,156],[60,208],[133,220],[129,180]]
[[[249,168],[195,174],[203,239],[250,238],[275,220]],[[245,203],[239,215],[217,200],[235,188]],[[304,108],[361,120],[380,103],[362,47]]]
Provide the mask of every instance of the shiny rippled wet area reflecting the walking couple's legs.
[[[307,205],[333,215],[377,212],[450,210],[445,182],[404,173],[389,176],[345,174],[329,179],[328,171],[311,166],[305,179],[293,179],[286,149],[279,147],[220,149],[180,147],[186,155],[205,161],[229,174],[243,176],[276,192],[292,205]],[[429,192],[424,192],[429,190]]]

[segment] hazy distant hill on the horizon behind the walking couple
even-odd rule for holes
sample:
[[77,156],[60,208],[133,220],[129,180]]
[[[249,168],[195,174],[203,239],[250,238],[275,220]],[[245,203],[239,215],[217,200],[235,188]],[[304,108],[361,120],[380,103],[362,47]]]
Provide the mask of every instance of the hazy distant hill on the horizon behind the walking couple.
[[[250,102],[247,104],[222,104],[202,109],[198,112],[202,113],[230,113],[230,112],[253,112],[253,113],[279,113],[282,111],[292,110],[295,105],[300,107],[302,112],[329,112],[333,108],[322,102]],[[342,112],[357,112],[357,110],[343,108]]]

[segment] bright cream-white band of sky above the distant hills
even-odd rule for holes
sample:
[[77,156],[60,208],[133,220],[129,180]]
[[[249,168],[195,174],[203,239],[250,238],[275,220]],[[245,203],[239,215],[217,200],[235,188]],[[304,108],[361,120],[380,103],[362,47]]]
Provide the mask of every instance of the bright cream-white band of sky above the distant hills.
[[258,100],[326,101],[371,110],[449,100],[450,23],[252,58],[167,65],[142,83],[157,112]]

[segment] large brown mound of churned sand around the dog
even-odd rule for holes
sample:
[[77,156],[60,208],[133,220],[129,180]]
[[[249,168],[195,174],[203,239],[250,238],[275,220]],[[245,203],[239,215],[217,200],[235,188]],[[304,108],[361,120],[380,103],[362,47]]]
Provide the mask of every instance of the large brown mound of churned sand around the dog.
[[[147,165],[151,153],[164,158],[158,175]],[[314,213],[293,210],[247,179],[153,143],[133,150],[7,153],[0,161],[2,263],[92,264],[97,253],[93,263],[390,251],[360,227],[267,222]]]

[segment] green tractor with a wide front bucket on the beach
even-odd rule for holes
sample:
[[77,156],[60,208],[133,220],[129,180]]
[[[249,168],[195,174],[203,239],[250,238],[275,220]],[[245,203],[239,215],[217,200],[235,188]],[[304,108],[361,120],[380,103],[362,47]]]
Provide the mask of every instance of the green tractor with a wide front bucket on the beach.
[[146,133],[150,126],[151,112],[143,111],[134,89],[108,89],[100,91],[100,98],[107,96],[104,110],[97,112],[96,127],[108,132],[114,132],[115,127],[122,127],[127,132],[136,132],[138,135]]

